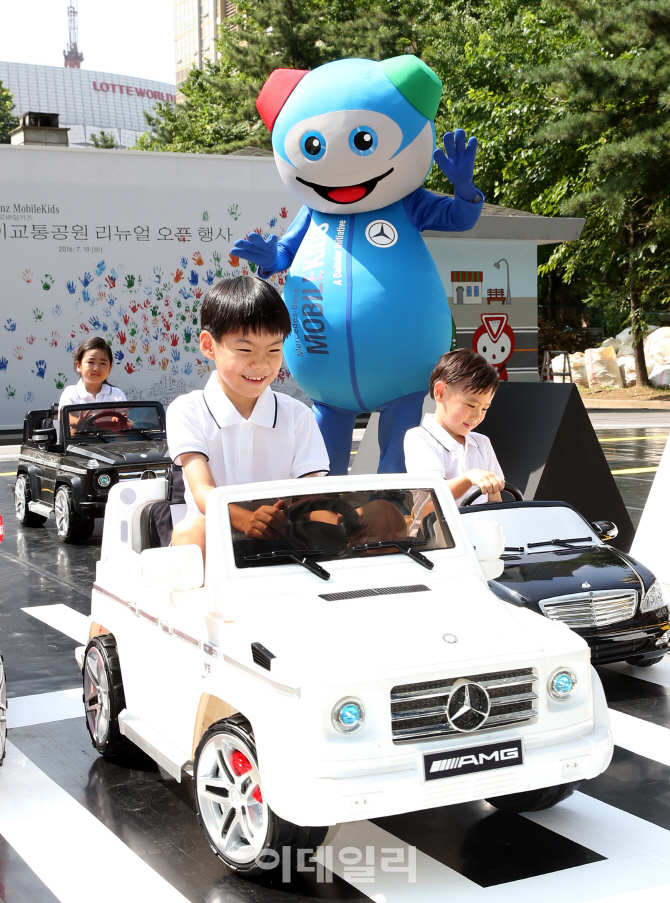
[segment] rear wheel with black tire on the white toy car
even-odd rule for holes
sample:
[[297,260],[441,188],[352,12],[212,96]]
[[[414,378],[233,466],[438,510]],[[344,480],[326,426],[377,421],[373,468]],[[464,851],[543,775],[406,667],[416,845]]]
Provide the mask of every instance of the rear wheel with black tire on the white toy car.
[[126,707],[121,664],[114,637],[93,637],[82,668],[84,714],[93,747],[106,759],[135,758],[138,748],[119,730],[119,712]]

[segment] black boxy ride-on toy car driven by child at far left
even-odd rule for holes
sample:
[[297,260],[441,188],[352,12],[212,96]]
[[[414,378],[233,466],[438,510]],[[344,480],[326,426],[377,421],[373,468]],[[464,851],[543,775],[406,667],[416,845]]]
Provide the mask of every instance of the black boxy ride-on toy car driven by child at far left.
[[165,477],[170,466],[158,401],[29,411],[14,486],[16,517],[37,527],[53,512],[59,538],[83,542],[95,518],[104,516],[115,483]]

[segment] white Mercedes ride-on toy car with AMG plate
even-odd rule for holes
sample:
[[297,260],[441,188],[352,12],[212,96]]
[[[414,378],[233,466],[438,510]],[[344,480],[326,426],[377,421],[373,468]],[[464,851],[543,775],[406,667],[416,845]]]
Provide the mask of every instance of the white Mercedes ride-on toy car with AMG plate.
[[[547,808],[609,764],[586,643],[496,598],[502,529],[481,524],[475,552],[442,481],[219,488],[206,574],[196,546],[148,547],[165,493],[110,492],[78,650],[86,719],[102,755],[138,746],[192,775],[229,868],[295,861],[342,822],[482,798]],[[278,500],[279,539],[231,527],[230,505]]]

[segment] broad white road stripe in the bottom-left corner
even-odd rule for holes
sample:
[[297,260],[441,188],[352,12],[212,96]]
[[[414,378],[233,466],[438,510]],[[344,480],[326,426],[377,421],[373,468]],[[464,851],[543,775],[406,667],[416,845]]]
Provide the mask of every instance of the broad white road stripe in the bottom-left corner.
[[61,903],[187,903],[12,743],[2,771],[0,834]]

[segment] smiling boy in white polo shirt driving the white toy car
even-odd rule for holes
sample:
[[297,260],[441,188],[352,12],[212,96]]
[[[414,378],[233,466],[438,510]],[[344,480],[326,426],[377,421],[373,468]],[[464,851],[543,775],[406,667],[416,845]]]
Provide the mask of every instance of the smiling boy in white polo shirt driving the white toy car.
[[[254,276],[217,283],[200,314],[200,349],[215,371],[203,390],[167,410],[170,457],[184,468],[187,513],[172,544],[205,554],[205,504],[217,486],[328,473],[328,453],[314,414],[270,384],[282,364],[291,319],[278,292]],[[288,523],[283,502],[256,511],[231,506],[234,529],[277,539]]]

